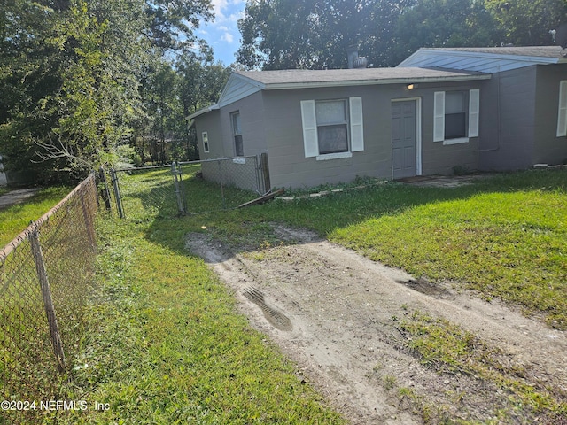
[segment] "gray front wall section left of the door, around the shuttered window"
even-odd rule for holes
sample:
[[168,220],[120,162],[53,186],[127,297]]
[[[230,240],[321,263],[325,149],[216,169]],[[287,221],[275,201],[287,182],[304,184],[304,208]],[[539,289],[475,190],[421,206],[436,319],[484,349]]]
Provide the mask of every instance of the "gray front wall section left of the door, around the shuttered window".
[[[352,158],[317,161],[305,158],[301,125],[301,100],[362,97],[364,151]],[[389,178],[391,147],[384,143],[390,124],[384,99],[376,88],[273,90],[264,92],[270,179],[273,187],[312,187],[350,182],[357,176]],[[389,136],[388,136],[389,137]]]

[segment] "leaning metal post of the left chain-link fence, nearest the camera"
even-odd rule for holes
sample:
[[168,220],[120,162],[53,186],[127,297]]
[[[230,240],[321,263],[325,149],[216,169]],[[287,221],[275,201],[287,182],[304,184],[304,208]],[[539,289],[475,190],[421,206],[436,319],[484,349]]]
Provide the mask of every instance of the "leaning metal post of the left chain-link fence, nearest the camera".
[[39,242],[39,233],[35,228],[30,234],[30,242],[32,246],[32,253],[34,254],[35,269],[39,284],[42,289],[43,306],[47,314],[47,321],[50,326],[51,343],[53,344],[53,351],[58,359],[59,371],[65,371],[65,353],[63,352],[63,344],[61,344],[61,336],[59,336],[59,328],[57,324],[57,316],[55,315],[55,307],[51,299],[50,282],[47,279],[47,269],[45,268],[45,260],[43,259],[42,245]]

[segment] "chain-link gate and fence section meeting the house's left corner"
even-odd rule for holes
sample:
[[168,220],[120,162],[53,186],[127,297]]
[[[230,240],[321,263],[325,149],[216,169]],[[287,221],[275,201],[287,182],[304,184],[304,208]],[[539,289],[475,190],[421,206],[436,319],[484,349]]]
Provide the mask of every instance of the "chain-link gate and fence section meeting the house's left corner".
[[139,211],[171,217],[229,210],[268,192],[268,158],[217,158],[110,170],[107,181],[122,217]]

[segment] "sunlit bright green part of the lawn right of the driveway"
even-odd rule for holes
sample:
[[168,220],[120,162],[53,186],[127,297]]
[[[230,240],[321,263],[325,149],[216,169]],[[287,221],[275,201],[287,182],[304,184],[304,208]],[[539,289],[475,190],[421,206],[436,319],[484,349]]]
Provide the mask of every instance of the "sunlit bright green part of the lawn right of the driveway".
[[477,193],[338,228],[330,239],[417,276],[544,313],[567,328],[563,189]]

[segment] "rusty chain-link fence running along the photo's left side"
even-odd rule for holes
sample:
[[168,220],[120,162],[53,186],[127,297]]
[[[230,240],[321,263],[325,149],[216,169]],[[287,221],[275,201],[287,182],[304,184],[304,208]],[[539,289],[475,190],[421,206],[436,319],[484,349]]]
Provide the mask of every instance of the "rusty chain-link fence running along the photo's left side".
[[95,269],[96,213],[91,174],[0,251],[4,400],[57,398],[82,337],[82,307]]

